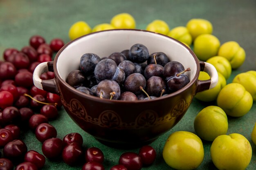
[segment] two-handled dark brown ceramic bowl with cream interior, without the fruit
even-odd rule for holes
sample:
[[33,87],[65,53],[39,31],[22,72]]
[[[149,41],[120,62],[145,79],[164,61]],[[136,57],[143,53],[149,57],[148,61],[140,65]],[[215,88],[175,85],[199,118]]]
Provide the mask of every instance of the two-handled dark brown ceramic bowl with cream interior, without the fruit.
[[[66,83],[68,73],[79,69],[85,53],[105,57],[113,52],[144,44],[149,53],[164,52],[171,61],[181,62],[190,82],[184,88],[164,97],[147,101],[120,101],[85,95]],[[40,75],[53,71],[55,78],[42,80]],[[200,81],[200,71],[211,79]],[[141,146],[149,144],[175,126],[188,110],[196,93],[216,86],[218,73],[209,63],[198,61],[191,49],[165,35],[145,30],[108,30],[84,35],[58,51],[53,62],[39,64],[33,75],[37,88],[60,95],[72,120],[85,132],[108,146]],[[65,122],[63,126],[68,126]]]

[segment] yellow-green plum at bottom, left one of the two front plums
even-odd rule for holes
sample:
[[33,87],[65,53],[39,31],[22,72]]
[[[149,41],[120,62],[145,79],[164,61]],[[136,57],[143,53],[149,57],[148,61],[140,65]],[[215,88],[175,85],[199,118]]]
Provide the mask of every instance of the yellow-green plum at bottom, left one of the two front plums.
[[192,132],[173,132],[164,145],[164,161],[177,170],[193,170],[204,159],[204,147],[201,139]]

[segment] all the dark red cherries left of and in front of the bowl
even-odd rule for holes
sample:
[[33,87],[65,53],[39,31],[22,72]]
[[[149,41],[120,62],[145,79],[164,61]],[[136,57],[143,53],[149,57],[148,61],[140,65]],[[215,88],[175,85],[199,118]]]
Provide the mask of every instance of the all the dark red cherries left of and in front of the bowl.
[[[46,158],[61,158],[72,166],[82,163],[82,170],[104,170],[103,152],[96,147],[85,149],[83,137],[73,132],[60,139],[57,130],[49,121],[57,119],[61,109],[58,95],[36,88],[32,74],[41,62],[52,60],[53,52],[64,45],[61,39],[46,44],[39,35],[32,36],[29,46],[21,51],[6,49],[4,61],[0,62],[0,169],[38,170],[45,165]],[[41,79],[53,79],[53,72],[45,72]],[[43,155],[28,150],[20,139],[22,130],[33,130],[36,139],[42,143]],[[143,146],[139,154],[126,152],[111,170],[141,169],[153,163],[156,152],[151,146]]]

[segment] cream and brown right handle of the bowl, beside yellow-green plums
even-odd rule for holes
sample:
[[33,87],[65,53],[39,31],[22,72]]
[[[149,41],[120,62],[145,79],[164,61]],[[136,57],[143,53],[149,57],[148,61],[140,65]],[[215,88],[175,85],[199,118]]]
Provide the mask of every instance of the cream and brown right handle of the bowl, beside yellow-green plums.
[[199,61],[200,71],[204,71],[210,75],[210,79],[207,80],[198,80],[198,85],[195,93],[199,93],[205,90],[209,90],[216,86],[218,83],[218,72],[216,68],[207,62]]

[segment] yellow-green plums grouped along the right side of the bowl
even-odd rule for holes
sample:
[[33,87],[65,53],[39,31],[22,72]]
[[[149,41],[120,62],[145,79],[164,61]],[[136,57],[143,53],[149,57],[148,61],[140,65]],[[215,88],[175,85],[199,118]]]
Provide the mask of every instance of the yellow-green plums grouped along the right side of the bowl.
[[[166,24],[162,23],[162,25]],[[164,27],[166,28],[166,26]],[[252,158],[252,147],[248,139],[238,133],[226,135],[228,116],[241,117],[245,115],[251,110],[253,101],[255,101],[256,71],[240,73],[236,75],[232,83],[227,84],[232,70],[239,68],[245,61],[244,49],[234,41],[220,45],[218,38],[211,34],[213,30],[211,22],[204,19],[191,19],[186,27],[178,26],[169,32],[165,31],[165,33],[159,30],[159,28],[155,28],[158,33],[180,40],[188,46],[192,45],[191,49],[198,59],[212,64],[218,71],[216,87],[195,95],[195,98],[200,101],[211,102],[194,119],[194,130],[198,136],[192,132],[183,131],[171,134],[163,149],[164,160],[175,169],[192,170],[197,168],[204,158],[201,141],[203,139],[213,142],[210,150],[211,159],[218,169],[245,169]],[[151,29],[150,31],[154,30]],[[210,76],[205,72],[200,72],[198,79],[207,80],[210,79]],[[213,102],[216,106],[210,106]],[[255,129],[256,126],[252,131],[254,143],[256,139]],[[194,145],[187,144],[186,141],[188,140]],[[201,149],[195,150],[195,147],[198,148],[199,146]],[[180,152],[179,148],[186,148],[186,151],[184,149],[184,152]],[[197,159],[191,159],[195,155]],[[229,159],[229,161],[224,161],[225,159]],[[234,160],[238,159],[243,161],[234,163]],[[183,164],[184,161],[186,164]]]

